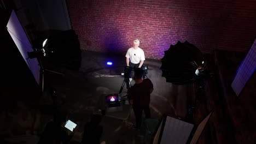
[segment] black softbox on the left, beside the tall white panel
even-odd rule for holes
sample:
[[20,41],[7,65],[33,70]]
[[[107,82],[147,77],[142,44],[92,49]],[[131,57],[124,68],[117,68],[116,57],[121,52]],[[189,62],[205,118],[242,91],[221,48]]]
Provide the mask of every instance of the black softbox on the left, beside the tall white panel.
[[81,64],[81,50],[78,35],[73,29],[50,35],[44,45],[45,68],[64,67],[78,70]]

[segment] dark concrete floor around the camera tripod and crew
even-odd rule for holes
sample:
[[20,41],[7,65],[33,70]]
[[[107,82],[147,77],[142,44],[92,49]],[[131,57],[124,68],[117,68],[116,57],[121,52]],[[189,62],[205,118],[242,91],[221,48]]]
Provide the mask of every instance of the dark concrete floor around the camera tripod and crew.
[[[112,61],[112,66],[106,62]],[[49,95],[50,87],[57,91],[57,107],[65,107],[69,117],[78,123],[78,131],[73,141],[82,139],[84,124],[90,121],[91,113],[101,108],[102,95],[118,93],[124,81],[120,74],[124,72],[125,56],[85,51],[82,53],[82,65],[79,71],[55,69],[64,75],[47,72],[45,74],[45,92],[39,100],[16,101],[14,108],[1,113],[1,121],[9,121],[9,128],[2,129],[2,140],[9,143],[35,143],[42,133],[44,125],[52,119],[53,101]],[[186,118],[190,104],[190,86],[172,85],[162,77],[160,61],[145,61],[149,66],[148,78],[152,80],[154,91],[151,95],[150,109],[152,117],[161,119],[165,113]],[[132,85],[134,81],[131,82]],[[124,87],[122,96],[126,95]],[[108,115],[108,113],[107,113]],[[118,116],[117,116],[118,117]],[[1,123],[1,122],[0,122]],[[121,121],[117,118],[103,117],[103,135],[106,143],[143,143],[144,131],[131,128],[135,117],[131,109],[129,118]],[[3,125],[2,125],[3,126]],[[4,127],[4,126],[3,126]],[[7,126],[6,126],[7,127]]]

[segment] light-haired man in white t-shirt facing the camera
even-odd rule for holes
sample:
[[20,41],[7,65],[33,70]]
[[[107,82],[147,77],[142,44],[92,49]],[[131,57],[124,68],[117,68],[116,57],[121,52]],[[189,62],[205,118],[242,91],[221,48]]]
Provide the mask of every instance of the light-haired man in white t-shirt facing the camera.
[[138,39],[133,40],[133,47],[128,49],[125,55],[126,65],[133,69],[141,68],[142,64],[145,61],[144,51],[138,46],[139,46],[139,40]]

